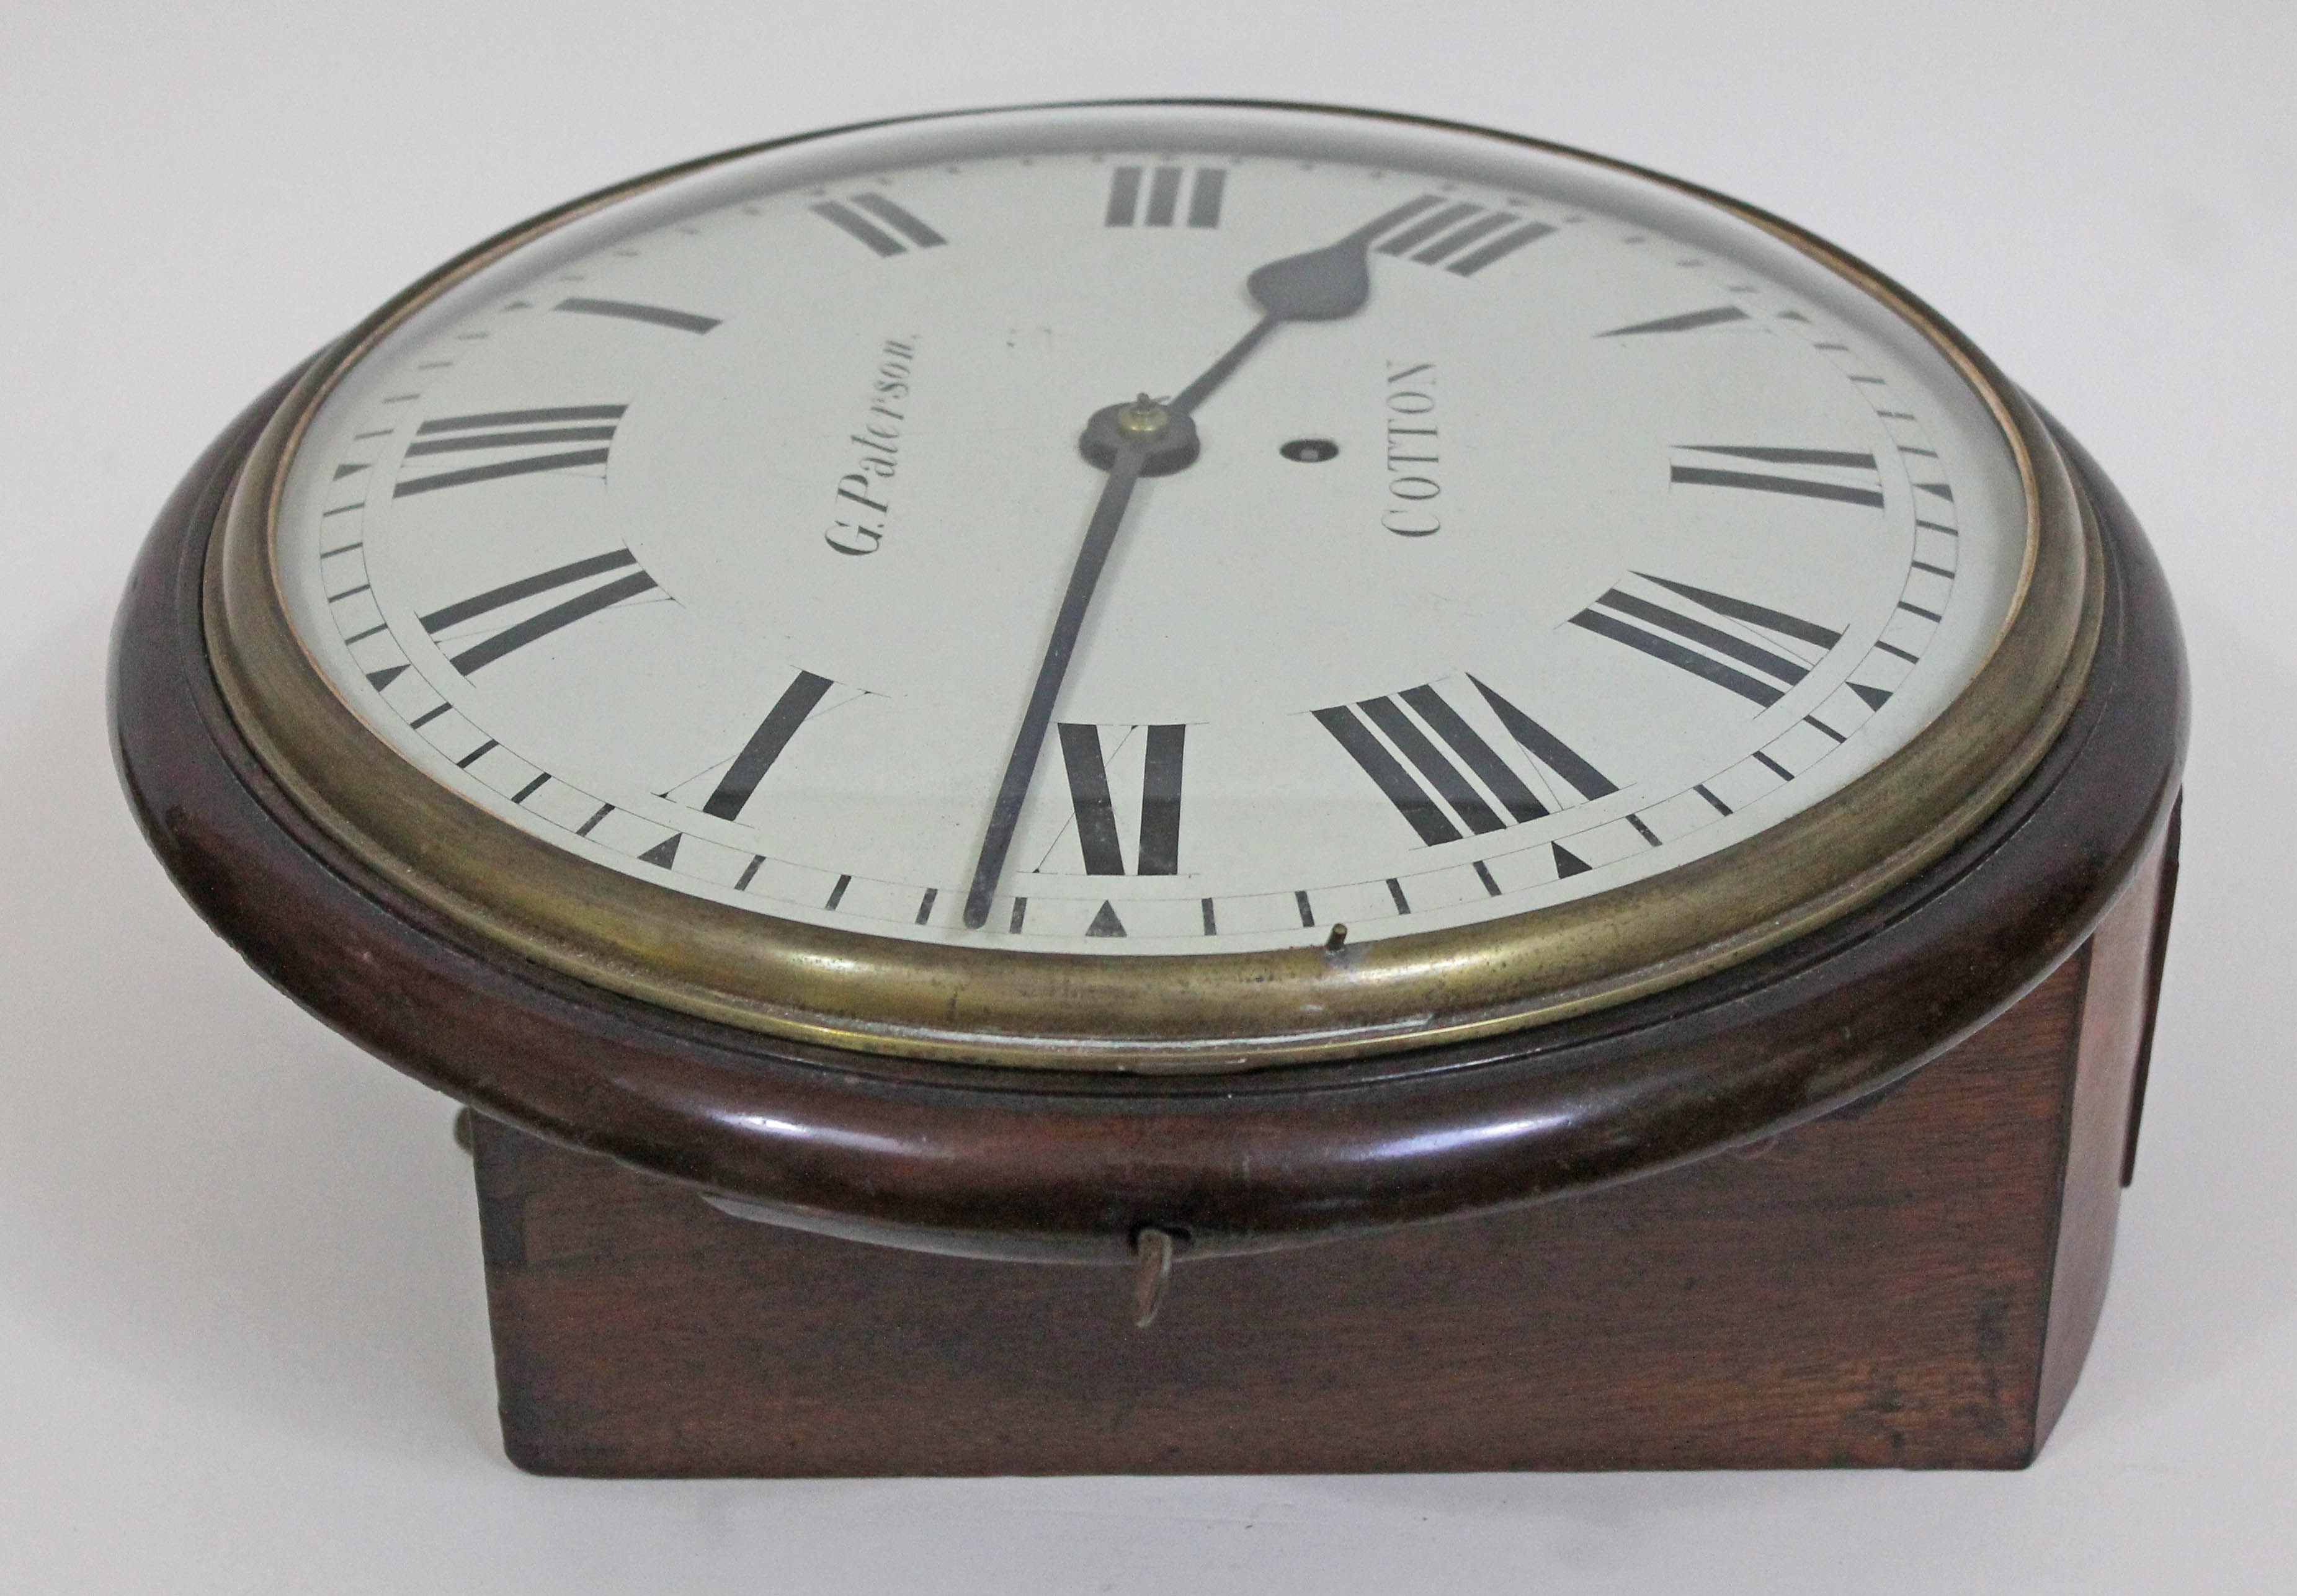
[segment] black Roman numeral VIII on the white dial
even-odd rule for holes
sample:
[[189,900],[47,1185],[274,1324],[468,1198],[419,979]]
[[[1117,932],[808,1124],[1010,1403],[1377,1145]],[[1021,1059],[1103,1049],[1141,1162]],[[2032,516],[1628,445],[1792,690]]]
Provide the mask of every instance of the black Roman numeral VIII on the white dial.
[[[1546,797],[1433,684],[1316,710],[1316,721],[1371,776],[1371,785],[1397,806],[1422,843],[1456,843],[1461,827],[1491,834],[1550,815],[1571,804],[1560,797],[1560,785],[1569,785],[1578,801],[1619,790],[1514,703],[1472,675],[1468,682],[1507,737],[1532,756],[1530,774],[1546,788]],[[1500,811],[1507,811],[1505,820]]]

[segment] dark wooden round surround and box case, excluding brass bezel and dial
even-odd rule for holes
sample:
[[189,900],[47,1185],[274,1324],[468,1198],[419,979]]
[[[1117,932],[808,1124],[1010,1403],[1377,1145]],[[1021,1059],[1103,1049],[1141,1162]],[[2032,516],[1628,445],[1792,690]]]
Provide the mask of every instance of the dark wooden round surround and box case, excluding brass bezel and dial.
[[[2063,434],[2104,570],[2095,666],[2033,776],[1923,875],[1523,1033],[1128,1079],[675,1015],[338,845],[255,758],[202,632],[216,514],[283,390],[138,560],[115,751],[260,974],[480,1111],[524,1467],[2014,1467],[2049,1433],[2134,1148],[2187,716],[2161,574]],[[1148,1233],[1178,1261],[1137,1330]]]

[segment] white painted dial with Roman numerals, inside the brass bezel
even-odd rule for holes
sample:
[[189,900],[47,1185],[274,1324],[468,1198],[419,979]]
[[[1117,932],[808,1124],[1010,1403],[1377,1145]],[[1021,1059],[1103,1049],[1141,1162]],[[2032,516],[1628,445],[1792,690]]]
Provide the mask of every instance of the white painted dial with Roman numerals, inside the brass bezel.
[[[1362,310],[1273,328],[1132,496],[967,930],[1107,482],[1086,418],[1360,230]],[[351,710],[554,847],[1158,955],[1521,914],[1778,824],[1969,684],[2024,503],[1913,324],[1679,191],[1070,108],[765,149],[494,259],[328,395],[278,567]]]

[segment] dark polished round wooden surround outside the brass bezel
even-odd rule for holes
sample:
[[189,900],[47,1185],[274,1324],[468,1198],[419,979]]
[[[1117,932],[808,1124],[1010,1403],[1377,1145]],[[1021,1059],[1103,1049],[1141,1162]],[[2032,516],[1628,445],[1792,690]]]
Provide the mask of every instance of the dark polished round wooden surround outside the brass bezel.
[[154,850],[257,971],[416,1079],[806,1229],[1114,1263],[1155,1226],[1250,1252],[1757,1141],[2008,1008],[2088,937],[2178,792],[2175,613],[2127,505],[2060,434],[2106,563],[2074,719],[1948,859],[1817,935],[1580,1020],[1339,1066],[1064,1077],[806,1047],[478,944],[266,776],[209,673],[200,597],[232,473],[285,388],[186,478],[122,602],[115,751]]

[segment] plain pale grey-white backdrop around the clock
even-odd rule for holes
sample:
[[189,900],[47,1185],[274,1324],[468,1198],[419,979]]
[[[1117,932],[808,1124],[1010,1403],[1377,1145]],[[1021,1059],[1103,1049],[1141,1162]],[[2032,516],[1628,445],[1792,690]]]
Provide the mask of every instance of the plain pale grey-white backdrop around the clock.
[[[0,0],[0,1587],[2288,1591],[2297,11]],[[979,103],[1408,110],[1815,227],[2104,462],[2196,671],[2184,884],[2088,1373],[2024,1474],[542,1481],[448,1105],[264,987],[122,804],[103,638],[177,475],[466,243]]]

